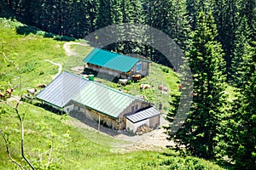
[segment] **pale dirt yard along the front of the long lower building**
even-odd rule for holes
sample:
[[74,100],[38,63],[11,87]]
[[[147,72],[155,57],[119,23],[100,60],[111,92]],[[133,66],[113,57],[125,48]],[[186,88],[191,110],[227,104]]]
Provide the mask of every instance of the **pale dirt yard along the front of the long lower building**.
[[[73,116],[73,114],[70,116]],[[166,145],[173,145],[173,142],[170,142],[166,139],[167,135],[165,133],[165,129],[162,126],[167,125],[167,122],[162,117],[160,128],[155,129],[149,133],[144,133],[143,135],[129,135],[127,132],[118,132],[106,127],[101,127],[101,130],[98,131],[97,123],[90,122],[85,118],[77,116],[73,116],[73,118],[70,119],[70,123],[79,129],[86,128],[90,131],[102,133],[102,135],[108,135],[114,139],[125,141],[125,144],[113,144],[113,152],[131,152],[135,150],[164,150]],[[101,144],[100,139],[97,139],[96,143]]]

